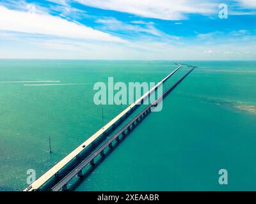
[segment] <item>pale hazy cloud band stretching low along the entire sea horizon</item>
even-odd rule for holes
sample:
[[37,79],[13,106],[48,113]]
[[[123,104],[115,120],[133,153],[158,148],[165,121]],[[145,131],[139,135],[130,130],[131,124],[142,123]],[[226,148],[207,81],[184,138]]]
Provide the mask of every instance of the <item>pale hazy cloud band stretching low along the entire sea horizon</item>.
[[[10,34],[10,36],[9,36]],[[255,59],[256,40],[212,39],[182,40],[179,45],[170,41],[137,39],[129,43],[81,41],[67,38],[44,38],[35,34],[0,32],[0,58],[28,59],[141,59],[141,60],[227,60]],[[223,38],[223,36],[221,36]],[[241,41],[237,40],[241,39]],[[239,47],[239,52],[237,52]]]

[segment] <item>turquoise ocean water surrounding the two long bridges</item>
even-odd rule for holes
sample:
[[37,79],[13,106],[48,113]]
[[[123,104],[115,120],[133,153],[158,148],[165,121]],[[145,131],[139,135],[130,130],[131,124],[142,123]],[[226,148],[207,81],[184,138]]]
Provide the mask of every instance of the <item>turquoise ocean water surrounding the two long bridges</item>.
[[[77,191],[256,190],[256,61],[184,62],[198,68]],[[93,103],[96,82],[158,82],[176,67],[171,61],[1,60],[0,191],[26,187],[28,169],[41,175],[124,110],[106,105],[102,119],[102,106]],[[227,186],[218,184],[223,168]]]

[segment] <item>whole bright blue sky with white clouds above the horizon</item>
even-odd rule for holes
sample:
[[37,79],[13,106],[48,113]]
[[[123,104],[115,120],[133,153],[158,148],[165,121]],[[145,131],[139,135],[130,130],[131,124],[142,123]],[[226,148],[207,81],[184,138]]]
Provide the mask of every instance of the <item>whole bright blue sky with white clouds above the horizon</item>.
[[255,60],[256,0],[0,0],[0,58]]

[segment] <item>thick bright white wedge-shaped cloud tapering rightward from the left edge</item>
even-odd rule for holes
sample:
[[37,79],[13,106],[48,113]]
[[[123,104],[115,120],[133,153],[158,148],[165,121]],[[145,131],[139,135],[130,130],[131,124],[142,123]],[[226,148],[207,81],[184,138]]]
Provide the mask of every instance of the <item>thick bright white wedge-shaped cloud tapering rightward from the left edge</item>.
[[44,34],[64,38],[125,42],[108,33],[97,31],[76,22],[43,13],[9,10],[0,5],[0,30]]

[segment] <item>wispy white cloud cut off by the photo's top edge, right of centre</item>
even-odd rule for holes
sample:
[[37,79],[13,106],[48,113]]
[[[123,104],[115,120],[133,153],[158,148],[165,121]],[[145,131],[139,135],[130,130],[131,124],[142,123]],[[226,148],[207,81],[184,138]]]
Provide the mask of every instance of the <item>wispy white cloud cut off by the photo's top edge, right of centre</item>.
[[76,0],[86,6],[121,11],[148,18],[180,20],[186,14],[209,15],[216,12],[215,3],[209,0]]

